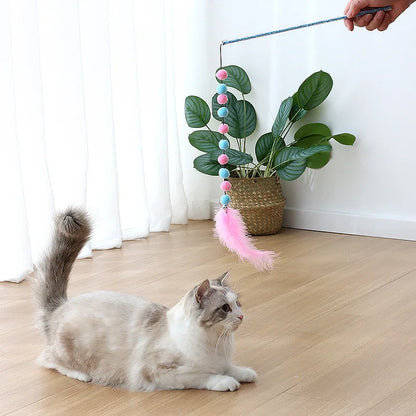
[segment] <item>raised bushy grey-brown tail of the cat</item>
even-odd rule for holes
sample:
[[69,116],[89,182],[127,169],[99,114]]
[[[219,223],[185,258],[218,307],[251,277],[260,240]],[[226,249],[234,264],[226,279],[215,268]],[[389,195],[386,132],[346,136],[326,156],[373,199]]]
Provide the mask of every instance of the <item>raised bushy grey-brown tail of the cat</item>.
[[55,218],[51,245],[38,265],[35,291],[46,334],[50,314],[67,299],[72,265],[90,233],[88,215],[81,209],[69,208]]

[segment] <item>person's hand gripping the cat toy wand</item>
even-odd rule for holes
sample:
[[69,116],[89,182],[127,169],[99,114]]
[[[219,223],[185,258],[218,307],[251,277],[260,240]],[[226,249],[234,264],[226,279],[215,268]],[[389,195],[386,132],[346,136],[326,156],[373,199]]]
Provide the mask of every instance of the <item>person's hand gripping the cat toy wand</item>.
[[[354,26],[366,27],[367,30],[377,29],[386,30],[389,24],[394,22],[415,0],[349,0],[344,14],[348,19],[344,24],[349,30],[354,30]],[[360,17],[354,16],[366,8],[391,6],[387,12],[379,11],[375,14],[365,14]]]

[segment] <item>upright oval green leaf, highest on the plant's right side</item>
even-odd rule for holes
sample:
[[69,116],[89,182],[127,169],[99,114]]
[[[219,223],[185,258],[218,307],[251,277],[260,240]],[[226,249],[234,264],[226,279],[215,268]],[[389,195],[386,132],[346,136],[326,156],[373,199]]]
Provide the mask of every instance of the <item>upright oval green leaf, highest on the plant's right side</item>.
[[298,106],[305,110],[312,110],[321,104],[332,89],[331,76],[323,71],[318,71],[305,79],[298,89]]

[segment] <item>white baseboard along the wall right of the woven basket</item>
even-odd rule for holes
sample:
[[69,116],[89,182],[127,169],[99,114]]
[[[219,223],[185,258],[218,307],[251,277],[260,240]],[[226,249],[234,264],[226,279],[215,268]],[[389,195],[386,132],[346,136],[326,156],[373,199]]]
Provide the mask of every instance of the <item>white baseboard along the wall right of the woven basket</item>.
[[283,226],[416,241],[416,219],[285,208]]

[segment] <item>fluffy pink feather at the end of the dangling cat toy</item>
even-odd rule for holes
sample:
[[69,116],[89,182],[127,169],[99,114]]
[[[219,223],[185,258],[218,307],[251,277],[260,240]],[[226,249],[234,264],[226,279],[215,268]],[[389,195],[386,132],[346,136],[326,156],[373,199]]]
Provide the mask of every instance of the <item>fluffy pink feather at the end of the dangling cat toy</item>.
[[259,271],[271,270],[276,257],[274,251],[258,250],[248,236],[241,214],[233,208],[220,208],[215,214],[215,235],[221,244],[241,260],[247,260]]

